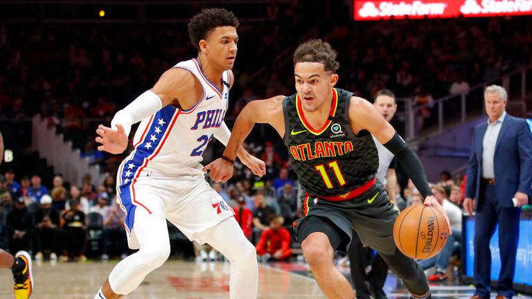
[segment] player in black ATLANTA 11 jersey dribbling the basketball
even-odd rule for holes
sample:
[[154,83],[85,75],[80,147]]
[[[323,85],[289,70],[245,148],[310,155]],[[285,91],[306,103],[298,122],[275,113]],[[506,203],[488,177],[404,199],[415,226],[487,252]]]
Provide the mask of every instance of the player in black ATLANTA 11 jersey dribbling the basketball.
[[[425,273],[393,242],[398,212],[375,179],[379,161],[371,134],[396,156],[425,197],[425,206],[445,212],[432,196],[418,157],[393,127],[370,102],[334,88],[338,68],[336,52],[326,42],[301,44],[294,53],[297,93],[250,102],[240,112],[223,156],[204,170],[210,170],[214,181],[229,179],[236,149],[255,123],[269,123],[283,137],[305,191],[303,217],[294,222],[294,233],[323,293],[328,298],[355,298],[351,284],[333,264],[334,251],[346,251],[355,229],[411,296],[429,298]],[[445,220],[450,232],[446,215]]]

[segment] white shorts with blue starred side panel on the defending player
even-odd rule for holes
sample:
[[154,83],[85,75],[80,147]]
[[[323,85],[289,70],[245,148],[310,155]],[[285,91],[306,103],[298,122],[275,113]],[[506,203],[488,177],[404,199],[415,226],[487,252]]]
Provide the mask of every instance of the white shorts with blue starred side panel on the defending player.
[[200,233],[233,217],[233,209],[213,190],[204,176],[168,176],[141,171],[126,176],[127,167],[121,167],[117,178],[116,201],[126,213],[130,248],[139,248],[134,234],[135,211],[162,215],[174,224],[190,241],[204,244]]

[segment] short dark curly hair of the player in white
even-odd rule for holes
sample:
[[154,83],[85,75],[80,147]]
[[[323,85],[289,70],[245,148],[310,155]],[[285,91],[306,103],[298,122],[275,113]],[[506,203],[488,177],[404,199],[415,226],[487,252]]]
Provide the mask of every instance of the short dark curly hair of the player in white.
[[233,12],[224,8],[204,8],[202,12],[192,17],[188,22],[188,36],[190,42],[199,51],[199,41],[206,39],[212,30],[222,26],[237,28],[238,25],[240,22]]

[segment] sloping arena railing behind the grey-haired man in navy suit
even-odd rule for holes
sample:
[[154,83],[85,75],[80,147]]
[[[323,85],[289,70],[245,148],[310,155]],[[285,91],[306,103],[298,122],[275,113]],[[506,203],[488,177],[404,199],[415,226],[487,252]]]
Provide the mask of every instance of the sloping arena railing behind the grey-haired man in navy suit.
[[[438,98],[432,104],[415,105],[415,96],[398,98],[398,105],[404,107],[402,115],[405,122],[405,139],[416,141],[419,138],[441,134],[444,130],[483,116],[484,89],[490,84],[501,85],[508,92],[508,114],[524,117],[532,108],[531,82],[532,65],[472,86],[466,93]],[[426,111],[429,111],[429,116]]]

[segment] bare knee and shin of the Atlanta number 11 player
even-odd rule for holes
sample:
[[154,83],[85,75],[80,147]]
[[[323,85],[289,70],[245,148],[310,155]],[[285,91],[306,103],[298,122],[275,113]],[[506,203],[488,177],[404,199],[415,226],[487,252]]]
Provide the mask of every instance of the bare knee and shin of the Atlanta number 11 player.
[[334,250],[324,233],[311,233],[301,243],[305,260],[312,269],[321,291],[330,299],[353,299],[355,292],[332,262]]

